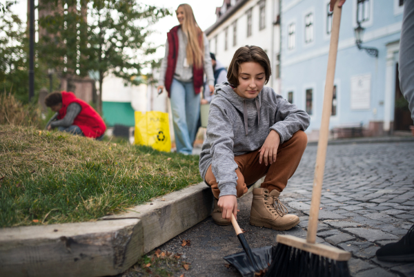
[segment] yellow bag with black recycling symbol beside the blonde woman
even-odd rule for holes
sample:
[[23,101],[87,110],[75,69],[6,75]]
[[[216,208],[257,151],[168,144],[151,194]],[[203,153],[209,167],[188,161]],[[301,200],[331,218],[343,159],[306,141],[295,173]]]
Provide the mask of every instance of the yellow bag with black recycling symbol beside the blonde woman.
[[171,137],[168,113],[135,111],[135,144],[170,152]]

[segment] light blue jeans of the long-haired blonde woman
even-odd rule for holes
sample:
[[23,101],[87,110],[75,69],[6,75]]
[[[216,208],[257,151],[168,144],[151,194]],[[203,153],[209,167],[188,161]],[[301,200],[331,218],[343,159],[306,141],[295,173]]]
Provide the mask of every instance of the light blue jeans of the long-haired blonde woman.
[[172,79],[170,102],[177,153],[191,155],[200,113],[200,95],[195,95],[193,82]]

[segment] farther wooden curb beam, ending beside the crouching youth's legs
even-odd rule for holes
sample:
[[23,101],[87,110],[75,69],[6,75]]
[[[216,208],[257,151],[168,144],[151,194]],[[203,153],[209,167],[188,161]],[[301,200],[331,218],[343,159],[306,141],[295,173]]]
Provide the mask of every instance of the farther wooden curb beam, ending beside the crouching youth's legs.
[[212,209],[211,188],[201,182],[133,207],[128,213],[106,216],[103,219],[139,218],[144,228],[144,253],[148,253],[206,219]]

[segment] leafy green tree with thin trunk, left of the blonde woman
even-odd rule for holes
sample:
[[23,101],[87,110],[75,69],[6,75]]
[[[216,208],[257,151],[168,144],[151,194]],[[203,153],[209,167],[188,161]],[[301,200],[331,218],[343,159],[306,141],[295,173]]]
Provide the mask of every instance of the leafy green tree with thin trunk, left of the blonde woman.
[[46,0],[40,8],[53,10],[39,19],[49,34],[41,41],[42,59],[62,74],[97,73],[99,112],[103,79],[112,73],[126,84],[139,84],[141,70],[153,62],[147,55],[156,50],[146,43],[148,27],[171,15],[135,0]]

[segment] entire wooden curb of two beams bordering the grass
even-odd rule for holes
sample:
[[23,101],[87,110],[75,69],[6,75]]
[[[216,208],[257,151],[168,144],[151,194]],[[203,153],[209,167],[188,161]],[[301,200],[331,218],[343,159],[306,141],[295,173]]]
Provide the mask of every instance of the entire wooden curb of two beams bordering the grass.
[[204,182],[95,222],[0,229],[0,276],[108,276],[210,216]]

